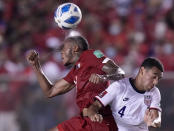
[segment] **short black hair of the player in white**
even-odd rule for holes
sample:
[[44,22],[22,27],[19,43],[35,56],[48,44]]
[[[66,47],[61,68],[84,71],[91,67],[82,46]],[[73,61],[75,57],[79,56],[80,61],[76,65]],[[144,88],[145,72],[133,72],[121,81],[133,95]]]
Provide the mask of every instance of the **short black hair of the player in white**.
[[141,67],[142,66],[144,68],[149,68],[149,69],[151,69],[152,67],[157,67],[161,72],[164,72],[163,64],[160,62],[160,60],[154,57],[146,58],[141,64]]

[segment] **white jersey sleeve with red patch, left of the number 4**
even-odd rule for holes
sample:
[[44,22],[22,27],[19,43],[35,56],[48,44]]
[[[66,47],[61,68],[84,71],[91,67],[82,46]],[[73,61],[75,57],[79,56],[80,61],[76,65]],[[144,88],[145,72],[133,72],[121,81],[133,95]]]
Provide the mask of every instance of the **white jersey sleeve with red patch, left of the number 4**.
[[105,91],[100,93],[95,98],[103,105],[106,106],[115,99],[117,93],[119,92],[119,83],[114,82],[112,83]]

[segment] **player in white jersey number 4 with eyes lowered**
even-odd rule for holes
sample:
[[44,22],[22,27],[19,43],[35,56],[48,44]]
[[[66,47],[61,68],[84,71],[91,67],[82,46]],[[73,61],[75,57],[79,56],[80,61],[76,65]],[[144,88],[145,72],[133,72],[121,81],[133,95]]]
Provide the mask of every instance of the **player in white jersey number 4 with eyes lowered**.
[[110,105],[119,131],[148,131],[161,125],[161,95],[156,87],[163,76],[163,65],[155,58],[143,61],[135,78],[113,82],[83,110],[94,122],[102,122],[98,110]]

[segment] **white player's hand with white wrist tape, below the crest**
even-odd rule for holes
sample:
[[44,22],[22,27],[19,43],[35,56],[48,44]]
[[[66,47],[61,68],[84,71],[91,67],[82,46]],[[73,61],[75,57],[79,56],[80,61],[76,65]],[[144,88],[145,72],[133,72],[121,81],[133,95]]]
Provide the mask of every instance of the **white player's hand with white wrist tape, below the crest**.
[[161,121],[156,121],[156,118],[158,118],[158,111],[153,109],[147,109],[144,115],[144,121],[146,122],[147,126],[152,127],[160,127]]

